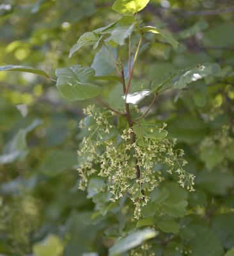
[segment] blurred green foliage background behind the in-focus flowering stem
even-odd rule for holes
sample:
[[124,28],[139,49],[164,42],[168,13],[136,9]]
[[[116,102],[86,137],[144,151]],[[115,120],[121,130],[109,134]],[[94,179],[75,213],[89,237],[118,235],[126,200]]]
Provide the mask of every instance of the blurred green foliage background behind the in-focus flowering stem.
[[[92,65],[97,76],[107,68],[111,74],[114,67],[105,48],[96,55],[89,47],[70,59],[68,54],[83,33],[120,19],[111,10],[113,2],[1,1],[0,66],[35,67],[52,79],[56,68],[75,64]],[[169,136],[184,148],[187,170],[196,175],[196,191],[187,193],[168,176],[171,181],[153,191],[142,220],[127,222],[124,215],[130,209],[120,214],[114,207],[102,209],[102,216],[91,200],[100,182],[89,184],[88,198],[77,189],[76,151],[84,136],[78,124],[82,108],[93,100],[64,100],[54,81],[43,76],[0,72],[1,255],[108,255],[123,234],[109,255],[139,245],[130,255],[234,255],[233,3],[152,0],[139,16],[146,24],[168,28],[180,45],[173,49],[164,37],[148,33],[135,82],[160,84],[187,68],[203,77],[180,77],[176,86],[186,88],[161,93],[149,115],[168,123]],[[120,51],[121,56],[125,53]],[[200,65],[207,63],[206,72],[200,72]],[[112,106],[120,104],[113,77],[104,82],[102,94]],[[147,97],[141,100],[139,108],[148,102]],[[160,234],[144,230],[152,223]],[[152,237],[147,249],[143,241]],[[141,246],[145,254],[137,254]]]

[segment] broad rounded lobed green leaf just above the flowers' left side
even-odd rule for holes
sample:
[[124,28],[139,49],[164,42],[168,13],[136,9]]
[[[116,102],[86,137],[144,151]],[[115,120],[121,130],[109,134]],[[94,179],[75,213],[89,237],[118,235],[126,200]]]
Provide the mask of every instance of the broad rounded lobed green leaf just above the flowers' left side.
[[101,93],[101,88],[96,84],[87,83],[94,76],[92,68],[75,65],[70,68],[58,68],[56,86],[68,100],[85,100],[97,97]]

